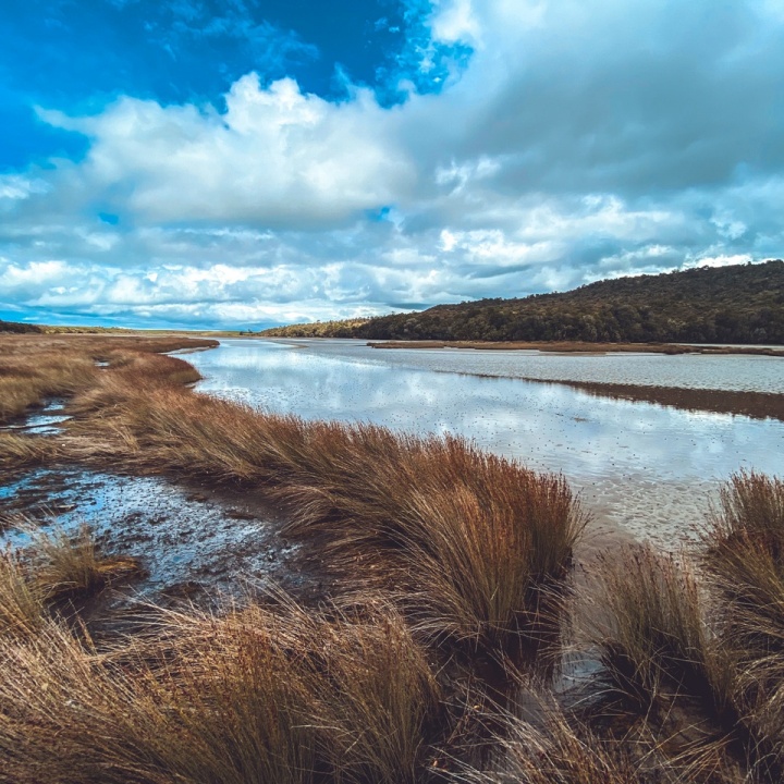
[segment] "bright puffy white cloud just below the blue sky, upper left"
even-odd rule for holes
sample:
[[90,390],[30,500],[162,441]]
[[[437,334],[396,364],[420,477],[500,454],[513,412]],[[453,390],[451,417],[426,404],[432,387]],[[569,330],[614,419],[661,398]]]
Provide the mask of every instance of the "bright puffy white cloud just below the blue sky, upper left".
[[396,112],[368,90],[330,103],[290,78],[238,79],[226,111],[122,98],[103,113],[50,124],[93,138],[87,160],[63,167],[118,210],[147,221],[247,221],[311,228],[350,220],[408,192],[416,170],[395,138]]

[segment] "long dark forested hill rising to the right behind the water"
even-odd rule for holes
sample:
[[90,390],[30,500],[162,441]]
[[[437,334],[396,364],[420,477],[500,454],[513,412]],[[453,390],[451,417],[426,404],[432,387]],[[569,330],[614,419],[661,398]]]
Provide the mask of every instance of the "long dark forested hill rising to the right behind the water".
[[784,343],[784,261],[599,281],[563,294],[437,305],[261,334],[377,340]]

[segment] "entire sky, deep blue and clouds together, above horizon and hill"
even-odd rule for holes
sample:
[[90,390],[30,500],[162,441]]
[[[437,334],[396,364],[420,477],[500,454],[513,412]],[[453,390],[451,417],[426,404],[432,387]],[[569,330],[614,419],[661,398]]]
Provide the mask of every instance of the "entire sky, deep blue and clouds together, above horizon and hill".
[[784,0],[2,0],[0,319],[261,329],[784,255]]

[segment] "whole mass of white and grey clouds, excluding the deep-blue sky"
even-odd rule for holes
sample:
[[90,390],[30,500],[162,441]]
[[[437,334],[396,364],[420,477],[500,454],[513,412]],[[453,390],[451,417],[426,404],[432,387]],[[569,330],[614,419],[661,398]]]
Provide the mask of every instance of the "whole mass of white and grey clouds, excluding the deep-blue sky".
[[0,177],[0,299],[260,326],[781,256],[776,3],[442,0],[429,35],[470,59],[395,107],[248,74],[41,109],[89,149]]

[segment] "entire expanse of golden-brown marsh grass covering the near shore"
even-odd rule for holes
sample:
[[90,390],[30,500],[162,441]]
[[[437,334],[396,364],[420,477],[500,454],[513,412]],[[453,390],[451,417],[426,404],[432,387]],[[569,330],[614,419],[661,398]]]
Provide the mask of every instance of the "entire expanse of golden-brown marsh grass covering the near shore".
[[[41,439],[47,446],[36,456],[37,440],[2,433],[0,466],[56,456],[261,489],[285,512],[283,535],[309,543],[332,598],[304,607],[274,592],[220,614],[148,611],[146,634],[103,640],[99,651],[74,634],[78,623],[66,627],[50,609],[134,563],[101,560],[84,531],[56,530],[24,563],[8,554],[0,780],[781,780],[781,480],[751,473],[731,480],[701,571],[650,548],[600,565],[590,633],[604,666],[595,686],[622,698],[620,734],[602,723],[600,699],[591,701],[600,714],[590,728],[590,711],[583,723],[547,697],[524,721],[509,715],[515,696],[499,674],[536,678],[522,651],[549,662],[560,652],[586,523],[562,477],[461,439],[309,422],[197,395],[185,388],[198,379],[187,363],[151,353],[176,345],[101,341],[69,339],[68,351],[89,360],[91,369],[76,363],[84,378],[74,371],[59,388],[30,387],[39,390],[33,405],[52,394],[45,388],[65,390],[74,418],[64,434]],[[16,346],[28,363],[30,345]],[[19,359],[9,359],[13,353],[0,370]],[[98,359],[109,366],[95,367]],[[477,718],[482,711],[487,718]],[[746,758],[733,768],[738,739]],[[468,764],[488,747],[489,758]]]

